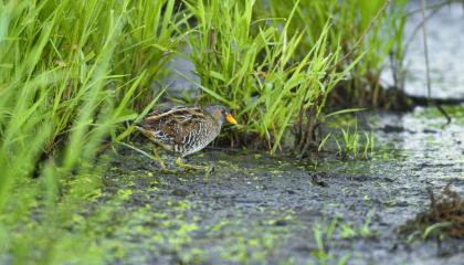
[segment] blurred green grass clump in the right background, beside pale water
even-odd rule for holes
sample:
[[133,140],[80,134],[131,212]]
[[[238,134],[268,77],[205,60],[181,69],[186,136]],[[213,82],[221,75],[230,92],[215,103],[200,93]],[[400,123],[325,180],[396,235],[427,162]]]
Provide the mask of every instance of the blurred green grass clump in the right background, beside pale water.
[[[337,65],[346,68],[360,57],[351,68],[348,81],[338,84],[330,96],[334,104],[340,106],[383,106],[389,95],[382,89],[380,74],[387,66],[389,57],[401,65],[403,57],[402,33],[405,21],[405,0],[372,1],[260,1],[256,13],[260,18],[282,18],[275,23],[283,23],[289,13],[294,18],[289,22],[289,32],[305,32],[299,49],[299,57],[304,57],[308,47],[315,45],[330,21],[327,49],[337,51],[341,46]],[[288,23],[288,22],[287,22]],[[391,55],[391,56],[390,56]]]

